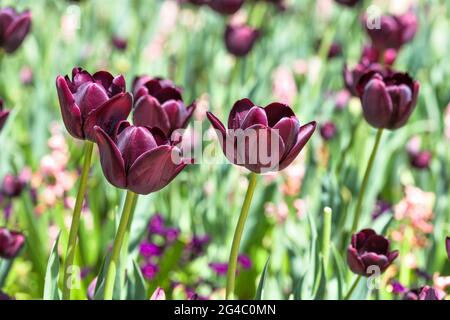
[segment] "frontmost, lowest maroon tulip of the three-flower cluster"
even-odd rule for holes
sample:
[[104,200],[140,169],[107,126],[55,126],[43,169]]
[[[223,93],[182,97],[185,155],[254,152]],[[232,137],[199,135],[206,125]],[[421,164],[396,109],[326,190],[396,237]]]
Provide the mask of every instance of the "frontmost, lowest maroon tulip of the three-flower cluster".
[[187,165],[181,151],[158,128],[121,122],[110,137],[94,128],[106,179],[114,186],[138,194],[164,188]]

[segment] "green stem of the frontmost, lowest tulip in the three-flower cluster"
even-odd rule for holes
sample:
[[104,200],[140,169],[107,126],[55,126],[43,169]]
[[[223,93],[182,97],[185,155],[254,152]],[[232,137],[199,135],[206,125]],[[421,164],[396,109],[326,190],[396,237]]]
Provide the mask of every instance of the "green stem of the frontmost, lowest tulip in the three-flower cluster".
[[114,238],[111,259],[108,266],[108,273],[106,274],[104,300],[112,300],[113,298],[114,283],[116,280],[117,266],[119,264],[120,250],[122,249],[125,235],[127,234],[127,231],[131,226],[131,217],[133,215],[133,210],[136,207],[136,199],[136,193],[132,191],[127,192],[122,216],[120,217],[119,228],[117,229],[117,234]]

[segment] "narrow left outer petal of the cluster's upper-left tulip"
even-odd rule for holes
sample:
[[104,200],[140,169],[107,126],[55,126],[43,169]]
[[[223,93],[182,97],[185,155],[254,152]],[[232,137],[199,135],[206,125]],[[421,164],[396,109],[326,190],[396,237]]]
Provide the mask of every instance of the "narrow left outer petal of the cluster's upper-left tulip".
[[56,79],[56,89],[58,91],[62,118],[67,131],[73,137],[84,140],[81,110],[75,104],[75,98],[73,97],[72,92],[70,92],[66,80],[61,76],[58,76]]

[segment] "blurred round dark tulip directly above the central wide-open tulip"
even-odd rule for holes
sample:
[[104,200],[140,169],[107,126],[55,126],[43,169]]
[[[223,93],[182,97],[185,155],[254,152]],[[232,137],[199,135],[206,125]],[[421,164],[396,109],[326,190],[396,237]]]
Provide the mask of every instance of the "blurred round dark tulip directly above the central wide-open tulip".
[[228,25],[225,30],[225,46],[236,57],[246,56],[253,48],[260,31],[246,25]]

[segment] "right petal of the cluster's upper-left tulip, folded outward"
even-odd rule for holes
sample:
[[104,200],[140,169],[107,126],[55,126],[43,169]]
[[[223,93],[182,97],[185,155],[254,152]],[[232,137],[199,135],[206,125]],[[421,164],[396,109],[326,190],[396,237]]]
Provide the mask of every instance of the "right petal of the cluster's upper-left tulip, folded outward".
[[99,126],[108,134],[112,134],[116,125],[128,118],[132,104],[133,98],[131,95],[129,93],[121,93],[91,111],[83,124],[86,138],[95,141],[94,126]]

